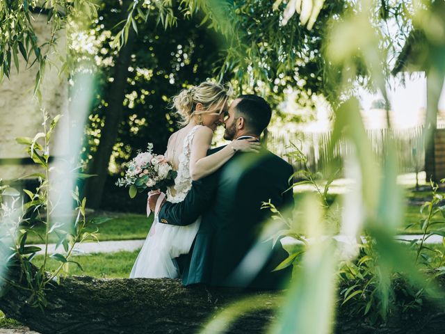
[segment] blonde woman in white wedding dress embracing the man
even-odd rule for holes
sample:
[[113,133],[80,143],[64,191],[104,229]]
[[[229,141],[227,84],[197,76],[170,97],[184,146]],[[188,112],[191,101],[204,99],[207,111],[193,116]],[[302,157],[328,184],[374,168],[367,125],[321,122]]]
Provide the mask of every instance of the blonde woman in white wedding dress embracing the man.
[[[213,132],[223,123],[227,100],[232,90],[221,84],[203,82],[181,90],[173,104],[182,118],[181,129],[168,140],[165,157],[177,170],[175,185],[167,190],[167,200],[181,202],[191,189],[192,181],[215,172],[236,151],[257,151],[259,143],[252,139],[232,141],[222,150],[207,157]],[[187,226],[158,223],[154,217],[143,248],[131,269],[130,278],[178,278],[175,257],[189,252],[200,227],[200,218]]]

